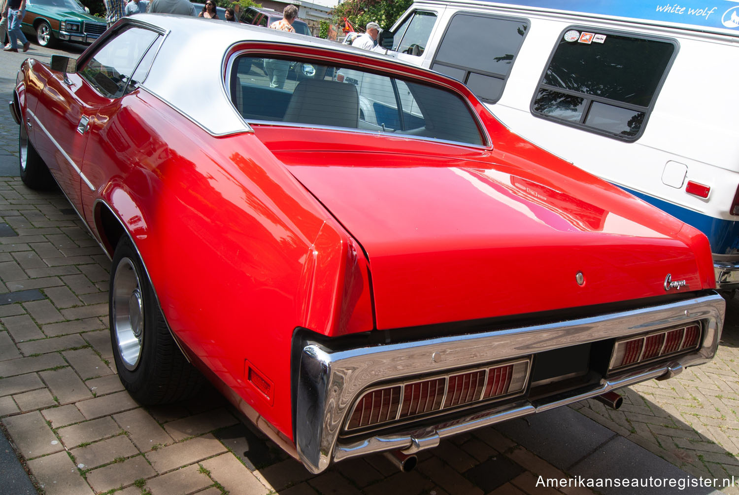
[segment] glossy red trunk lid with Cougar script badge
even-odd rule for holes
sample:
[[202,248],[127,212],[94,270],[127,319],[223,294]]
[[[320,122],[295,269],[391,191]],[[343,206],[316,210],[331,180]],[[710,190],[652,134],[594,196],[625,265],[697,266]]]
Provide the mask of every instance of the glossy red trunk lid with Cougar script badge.
[[712,283],[695,229],[540,149],[319,130],[297,149],[273,132],[257,129],[367,253],[378,329],[659,296],[668,274],[686,283],[670,292]]

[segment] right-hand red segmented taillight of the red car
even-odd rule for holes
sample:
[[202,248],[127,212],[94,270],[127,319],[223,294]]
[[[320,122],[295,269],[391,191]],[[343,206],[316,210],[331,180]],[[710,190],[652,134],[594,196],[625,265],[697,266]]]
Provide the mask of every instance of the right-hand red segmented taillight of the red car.
[[678,351],[697,348],[701,340],[701,327],[690,325],[680,329],[658,331],[616,342],[610,369],[667,356]]

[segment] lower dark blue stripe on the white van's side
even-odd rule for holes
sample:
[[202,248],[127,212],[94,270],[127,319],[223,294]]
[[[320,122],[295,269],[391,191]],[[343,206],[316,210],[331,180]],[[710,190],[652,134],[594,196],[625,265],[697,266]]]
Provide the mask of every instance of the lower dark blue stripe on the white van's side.
[[739,247],[739,221],[709,217],[691,209],[636,192],[633,189],[619,187],[703,232],[711,243],[711,252],[716,255],[726,255],[730,249]]

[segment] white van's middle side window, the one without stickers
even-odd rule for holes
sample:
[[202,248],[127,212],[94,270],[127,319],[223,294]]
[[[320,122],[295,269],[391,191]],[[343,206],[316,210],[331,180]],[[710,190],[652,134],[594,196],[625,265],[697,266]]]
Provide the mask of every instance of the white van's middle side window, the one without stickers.
[[523,18],[455,14],[431,68],[463,82],[477,98],[495,103],[503,95],[526,30]]

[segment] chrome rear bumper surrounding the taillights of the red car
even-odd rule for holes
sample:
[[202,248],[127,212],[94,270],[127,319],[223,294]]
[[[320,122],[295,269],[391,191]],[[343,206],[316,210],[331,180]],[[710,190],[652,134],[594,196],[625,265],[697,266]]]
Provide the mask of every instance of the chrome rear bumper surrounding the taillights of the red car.
[[[307,342],[299,362],[297,452],[309,471],[319,473],[333,461],[389,450],[410,454],[435,447],[442,438],[464,431],[546,411],[652,378],[672,377],[684,367],[706,363],[714,356],[721,336],[725,306],[720,295],[709,294],[678,303],[577,320],[347,351],[332,351],[319,343]],[[409,427],[403,431],[402,427],[396,427],[392,434],[379,433],[362,440],[339,437],[357,397],[379,381],[476,366],[695,321],[701,321],[704,329],[701,346],[695,351],[673,357],[667,363],[647,365],[603,378],[585,391],[580,389],[570,395],[547,397],[541,402],[518,397],[513,402],[491,404],[485,411],[477,408],[474,414],[464,417],[446,421],[442,417],[435,424],[421,429]]]

